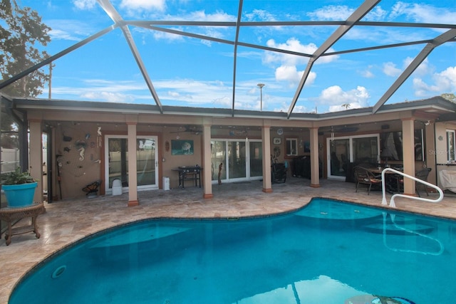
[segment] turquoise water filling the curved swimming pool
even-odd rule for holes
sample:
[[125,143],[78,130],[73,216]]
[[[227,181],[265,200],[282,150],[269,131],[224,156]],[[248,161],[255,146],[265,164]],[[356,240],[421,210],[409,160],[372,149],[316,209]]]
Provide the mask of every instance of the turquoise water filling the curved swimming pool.
[[313,199],[104,231],[33,269],[9,303],[455,303],[455,273],[456,221]]

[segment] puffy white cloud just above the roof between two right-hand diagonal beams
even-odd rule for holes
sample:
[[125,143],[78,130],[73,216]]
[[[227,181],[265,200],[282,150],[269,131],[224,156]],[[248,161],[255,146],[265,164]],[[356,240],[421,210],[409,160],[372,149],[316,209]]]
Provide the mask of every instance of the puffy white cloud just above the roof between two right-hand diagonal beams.
[[349,105],[348,109],[366,107],[370,97],[366,88],[361,86],[345,92],[338,85],[333,85],[321,91],[318,102],[322,105],[329,105],[329,111],[335,112],[346,110],[342,105]]

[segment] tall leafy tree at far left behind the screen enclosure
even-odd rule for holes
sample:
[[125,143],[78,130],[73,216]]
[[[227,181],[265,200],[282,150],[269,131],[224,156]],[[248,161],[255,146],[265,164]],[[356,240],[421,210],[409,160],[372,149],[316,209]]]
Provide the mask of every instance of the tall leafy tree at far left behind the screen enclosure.
[[[48,57],[39,46],[46,46],[51,28],[29,7],[21,8],[16,0],[0,0],[0,76],[7,80]],[[38,46],[38,47],[37,47]],[[48,74],[38,69],[15,81],[2,93],[13,97],[36,97],[48,82]],[[1,112],[1,145],[17,147],[17,126],[11,115]]]

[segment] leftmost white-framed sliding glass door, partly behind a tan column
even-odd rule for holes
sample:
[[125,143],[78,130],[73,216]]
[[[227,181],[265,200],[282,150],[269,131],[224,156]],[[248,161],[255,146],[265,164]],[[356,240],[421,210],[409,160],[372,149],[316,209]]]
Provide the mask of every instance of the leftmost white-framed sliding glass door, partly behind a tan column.
[[[111,192],[113,180],[120,179],[122,187],[128,191],[128,138],[123,135],[105,136],[105,189]],[[138,136],[136,138],[136,169],[138,190],[158,189],[157,137]]]

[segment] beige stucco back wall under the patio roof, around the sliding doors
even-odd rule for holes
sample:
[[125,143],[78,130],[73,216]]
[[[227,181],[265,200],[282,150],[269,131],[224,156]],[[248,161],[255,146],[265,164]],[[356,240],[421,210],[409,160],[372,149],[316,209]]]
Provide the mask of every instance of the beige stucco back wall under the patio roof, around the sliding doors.
[[[113,122],[112,124],[103,124],[101,128],[101,137],[98,136],[98,122],[58,122],[54,128],[54,147],[55,151],[50,153],[56,154],[56,172],[53,177],[53,199],[73,199],[86,196],[83,187],[99,179],[104,180],[105,164],[105,135],[127,135],[127,125],[123,122]],[[272,132],[272,131],[271,131]],[[275,133],[275,132],[274,132]],[[179,127],[163,127],[151,125],[138,125],[137,134],[139,136],[157,136],[158,137],[158,184],[162,188],[162,177],[170,178],[170,188],[179,186],[177,167],[195,166],[198,164],[203,167],[203,143],[202,133],[184,132]],[[232,134],[227,129],[212,130],[212,137],[224,138],[226,140],[245,139],[245,135]],[[260,130],[249,130],[249,139],[261,140]],[[271,135],[276,137],[277,135]],[[294,132],[289,137],[299,137],[306,140],[309,132],[306,130]],[[281,136],[282,142],[281,155],[279,162],[284,162],[286,156],[285,135]],[[185,155],[172,155],[171,149],[166,147],[171,145],[172,140],[192,140],[194,143],[194,153]],[[271,139],[272,141],[272,139]],[[270,143],[272,146],[272,142]],[[81,154],[81,147],[84,147]],[[304,147],[300,147],[304,152]],[[209,156],[210,157],[210,156]],[[291,159],[288,159],[290,162]],[[210,170],[210,168],[209,168]],[[58,178],[60,177],[60,179]],[[104,184],[104,183],[103,183]],[[187,187],[190,182],[186,183]],[[62,196],[60,196],[60,193]],[[100,193],[105,194],[104,186],[100,187]]]

